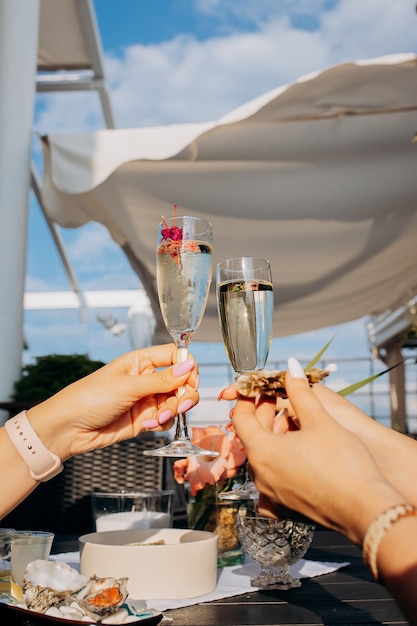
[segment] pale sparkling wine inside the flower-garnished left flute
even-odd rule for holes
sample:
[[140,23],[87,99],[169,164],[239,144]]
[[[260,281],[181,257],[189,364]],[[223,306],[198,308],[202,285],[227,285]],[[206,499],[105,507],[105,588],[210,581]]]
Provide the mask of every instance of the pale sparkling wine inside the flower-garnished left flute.
[[189,340],[206,307],[211,283],[212,247],[184,241],[175,254],[158,248],[157,282],[162,317],[175,339]]

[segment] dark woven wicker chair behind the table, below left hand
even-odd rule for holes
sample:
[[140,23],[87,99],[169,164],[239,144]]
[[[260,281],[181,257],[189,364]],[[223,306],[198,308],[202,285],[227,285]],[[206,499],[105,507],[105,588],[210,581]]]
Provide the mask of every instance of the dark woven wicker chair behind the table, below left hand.
[[143,433],[69,459],[63,472],[41,483],[1,526],[56,534],[92,532],[91,492],[173,488],[172,464],[164,457],[143,455],[166,443],[165,436]]

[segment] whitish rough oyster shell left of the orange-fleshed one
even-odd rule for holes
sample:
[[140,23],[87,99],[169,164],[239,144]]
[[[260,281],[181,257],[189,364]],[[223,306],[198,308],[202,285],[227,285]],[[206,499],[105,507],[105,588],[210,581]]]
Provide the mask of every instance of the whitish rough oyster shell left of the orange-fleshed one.
[[89,582],[76,569],[63,561],[31,561],[22,580],[26,606],[33,611],[45,613],[51,606],[58,606],[66,598],[78,593]]

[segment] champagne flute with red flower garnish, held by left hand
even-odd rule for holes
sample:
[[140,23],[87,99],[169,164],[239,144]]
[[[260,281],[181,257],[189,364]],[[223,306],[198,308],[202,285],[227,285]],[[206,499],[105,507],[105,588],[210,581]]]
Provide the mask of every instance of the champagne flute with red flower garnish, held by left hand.
[[[158,230],[156,273],[165,326],[178,349],[178,363],[188,357],[191,338],[206,308],[212,276],[212,227],[206,220],[181,216],[163,219]],[[184,389],[179,390],[179,396]],[[218,456],[190,439],[185,413],[179,413],[174,439],[149,456]]]

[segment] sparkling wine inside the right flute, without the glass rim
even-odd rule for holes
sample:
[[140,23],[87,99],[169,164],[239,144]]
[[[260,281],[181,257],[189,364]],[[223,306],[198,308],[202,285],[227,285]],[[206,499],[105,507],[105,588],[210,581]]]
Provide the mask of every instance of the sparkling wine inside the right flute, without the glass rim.
[[223,340],[236,372],[262,369],[271,342],[272,283],[227,281],[218,286]]

